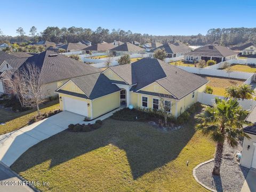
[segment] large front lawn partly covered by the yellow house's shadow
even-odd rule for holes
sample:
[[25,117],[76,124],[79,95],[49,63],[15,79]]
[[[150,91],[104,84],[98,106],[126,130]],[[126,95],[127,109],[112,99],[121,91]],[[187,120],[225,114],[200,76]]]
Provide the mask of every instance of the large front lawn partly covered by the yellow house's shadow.
[[206,191],[192,172],[213,154],[213,142],[193,122],[161,132],[146,122],[106,119],[98,130],[39,142],[11,168],[29,181],[50,182],[42,191]]

